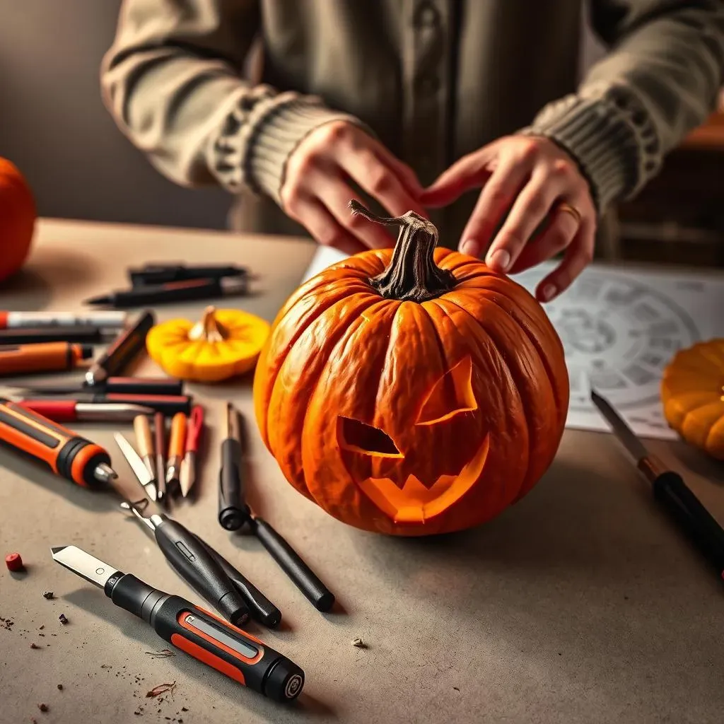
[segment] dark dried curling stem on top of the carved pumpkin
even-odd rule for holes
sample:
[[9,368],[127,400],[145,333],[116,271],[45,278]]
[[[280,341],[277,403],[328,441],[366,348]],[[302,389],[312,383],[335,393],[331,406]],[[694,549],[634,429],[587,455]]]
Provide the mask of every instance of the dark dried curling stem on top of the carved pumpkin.
[[349,206],[353,214],[400,229],[390,265],[369,280],[383,297],[424,302],[455,287],[452,271],[440,269],[434,262],[437,229],[432,222],[415,211],[408,211],[404,216],[376,216],[358,201],[350,201]]

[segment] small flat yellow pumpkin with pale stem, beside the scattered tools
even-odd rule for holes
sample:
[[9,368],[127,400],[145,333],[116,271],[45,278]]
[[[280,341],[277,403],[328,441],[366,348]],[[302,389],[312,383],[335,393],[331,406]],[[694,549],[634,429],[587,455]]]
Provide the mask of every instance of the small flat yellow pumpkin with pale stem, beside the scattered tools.
[[146,337],[151,359],[167,374],[192,382],[220,382],[256,365],[269,323],[240,309],[207,307],[203,319],[171,319]]

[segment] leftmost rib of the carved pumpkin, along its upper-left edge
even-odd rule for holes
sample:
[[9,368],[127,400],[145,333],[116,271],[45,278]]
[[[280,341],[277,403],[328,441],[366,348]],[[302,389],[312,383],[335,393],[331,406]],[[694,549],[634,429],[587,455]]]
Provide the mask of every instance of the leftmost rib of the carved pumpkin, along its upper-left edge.
[[[317,298],[316,287],[308,292],[308,295],[298,297],[296,303],[287,307],[284,316],[277,316],[277,321],[271,327],[271,332],[266,340],[266,345],[261,350],[260,359],[262,364],[257,365],[254,374],[254,413],[257,426],[264,445],[269,447],[269,434],[267,431],[266,409],[271,400],[271,391],[279,374],[279,369],[285,361],[293,345],[297,342],[304,330],[313,324],[328,308],[335,304],[344,303],[350,296],[355,286],[361,285],[360,293],[371,294],[371,290],[363,285],[361,279],[355,277],[348,279],[343,277],[337,279],[336,286],[331,292],[325,292],[321,298]],[[321,292],[320,292],[321,293]],[[286,338],[280,339],[282,335]],[[273,356],[269,353],[273,350]]]

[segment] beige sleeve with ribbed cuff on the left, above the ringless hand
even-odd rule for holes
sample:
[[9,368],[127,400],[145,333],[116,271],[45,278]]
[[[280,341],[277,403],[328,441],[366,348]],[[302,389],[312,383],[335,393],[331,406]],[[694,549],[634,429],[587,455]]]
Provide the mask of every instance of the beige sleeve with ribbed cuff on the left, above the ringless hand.
[[285,164],[334,119],[320,98],[243,78],[255,0],[124,0],[101,66],[106,108],[156,169],[185,186],[251,188],[279,203]]

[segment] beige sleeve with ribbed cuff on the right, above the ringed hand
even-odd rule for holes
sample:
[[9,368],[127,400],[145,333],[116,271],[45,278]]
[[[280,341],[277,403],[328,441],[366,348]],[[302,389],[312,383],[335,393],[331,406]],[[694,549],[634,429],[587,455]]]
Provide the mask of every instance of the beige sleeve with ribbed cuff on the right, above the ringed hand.
[[715,110],[724,84],[722,0],[592,0],[610,52],[577,93],[544,107],[524,132],[576,157],[599,210],[631,198],[665,154]]

